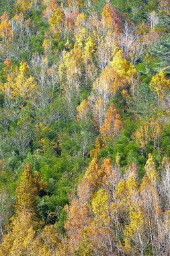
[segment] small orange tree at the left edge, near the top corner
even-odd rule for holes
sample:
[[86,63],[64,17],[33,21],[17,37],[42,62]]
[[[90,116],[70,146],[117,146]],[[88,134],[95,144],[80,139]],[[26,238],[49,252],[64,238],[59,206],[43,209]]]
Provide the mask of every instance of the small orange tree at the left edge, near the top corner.
[[13,30],[11,30],[11,25],[9,23],[9,16],[6,12],[1,16],[1,24],[0,24],[0,38],[3,39],[3,42],[7,44],[12,40]]

